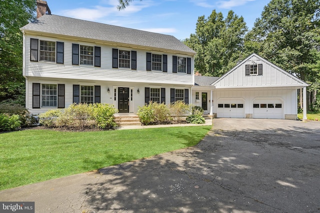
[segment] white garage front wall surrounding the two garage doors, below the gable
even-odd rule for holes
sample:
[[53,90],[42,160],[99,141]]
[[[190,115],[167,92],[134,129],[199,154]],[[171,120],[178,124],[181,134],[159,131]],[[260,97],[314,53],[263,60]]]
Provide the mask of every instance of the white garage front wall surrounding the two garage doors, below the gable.
[[297,114],[297,90],[285,87],[216,89],[213,96],[213,113],[217,112],[217,103],[221,99],[243,99],[245,114],[253,113],[254,100],[281,99],[284,115]]

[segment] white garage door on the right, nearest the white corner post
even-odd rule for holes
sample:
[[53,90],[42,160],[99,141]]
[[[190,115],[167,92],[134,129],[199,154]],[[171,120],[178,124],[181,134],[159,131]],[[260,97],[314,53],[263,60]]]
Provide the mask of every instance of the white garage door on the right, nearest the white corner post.
[[284,119],[282,101],[280,99],[253,101],[253,118]]

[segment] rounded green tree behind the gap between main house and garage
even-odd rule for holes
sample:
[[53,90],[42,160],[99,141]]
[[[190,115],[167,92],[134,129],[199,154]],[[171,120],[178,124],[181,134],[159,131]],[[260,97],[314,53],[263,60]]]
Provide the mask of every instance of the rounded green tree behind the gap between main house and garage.
[[198,17],[195,34],[183,42],[196,51],[195,69],[203,75],[221,76],[241,57],[247,31],[243,17],[230,10],[225,19],[215,10]]

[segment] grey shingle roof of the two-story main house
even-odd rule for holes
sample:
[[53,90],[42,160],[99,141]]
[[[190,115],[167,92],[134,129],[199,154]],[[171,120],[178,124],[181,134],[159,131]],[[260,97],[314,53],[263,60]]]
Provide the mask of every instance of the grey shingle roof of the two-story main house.
[[39,31],[143,47],[155,47],[191,54],[195,53],[191,48],[184,45],[172,35],[147,32],[59,15],[45,14],[36,21],[21,27],[20,30]]

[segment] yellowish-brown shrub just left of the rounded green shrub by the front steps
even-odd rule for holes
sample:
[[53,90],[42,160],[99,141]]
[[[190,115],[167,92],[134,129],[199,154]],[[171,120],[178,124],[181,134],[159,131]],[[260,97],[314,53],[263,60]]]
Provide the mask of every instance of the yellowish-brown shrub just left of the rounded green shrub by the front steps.
[[59,127],[83,130],[92,124],[92,107],[88,104],[71,104],[65,108],[62,115],[56,119]]

